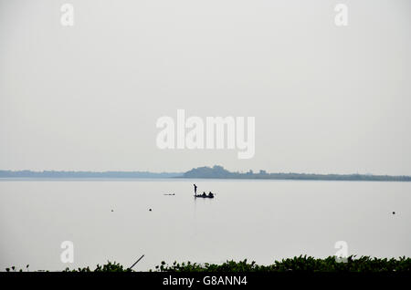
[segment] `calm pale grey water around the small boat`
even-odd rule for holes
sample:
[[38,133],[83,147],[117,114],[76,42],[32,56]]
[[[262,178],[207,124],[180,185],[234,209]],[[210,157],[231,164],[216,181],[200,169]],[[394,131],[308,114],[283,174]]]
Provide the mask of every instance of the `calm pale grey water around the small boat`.
[[[216,198],[195,199],[194,182]],[[0,181],[0,270],[130,266],[142,254],[135,270],[163,260],[270,264],[333,255],[337,241],[349,254],[411,256],[410,205],[411,182]],[[60,262],[66,240],[74,264]]]

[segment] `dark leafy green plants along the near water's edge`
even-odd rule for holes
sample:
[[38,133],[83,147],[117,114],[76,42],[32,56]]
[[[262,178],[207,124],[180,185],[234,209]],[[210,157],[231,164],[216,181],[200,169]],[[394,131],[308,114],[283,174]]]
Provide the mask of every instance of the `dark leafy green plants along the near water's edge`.
[[[28,271],[28,265],[26,266]],[[10,268],[6,269],[7,272]],[[12,267],[16,272],[16,268]],[[23,270],[19,270],[20,272]],[[66,268],[63,272],[132,272],[132,269],[123,267],[118,263],[108,262],[97,265],[93,270],[90,267],[72,269]],[[196,264],[182,263],[165,264],[155,266],[151,272],[411,272],[411,258],[400,257],[398,259],[380,259],[362,256],[355,258],[351,255],[345,262],[338,262],[335,256],[325,259],[317,259],[310,256],[293,257],[275,261],[270,265],[258,265],[255,262],[248,263],[247,259],[240,262],[227,261],[223,264]]]

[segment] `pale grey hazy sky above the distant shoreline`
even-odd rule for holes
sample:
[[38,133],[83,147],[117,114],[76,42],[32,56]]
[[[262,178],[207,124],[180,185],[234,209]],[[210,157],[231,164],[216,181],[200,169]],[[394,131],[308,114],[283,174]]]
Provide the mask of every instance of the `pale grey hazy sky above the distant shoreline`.
[[[411,175],[410,52],[409,0],[0,0],[0,169]],[[255,117],[254,158],[158,149],[177,109]]]

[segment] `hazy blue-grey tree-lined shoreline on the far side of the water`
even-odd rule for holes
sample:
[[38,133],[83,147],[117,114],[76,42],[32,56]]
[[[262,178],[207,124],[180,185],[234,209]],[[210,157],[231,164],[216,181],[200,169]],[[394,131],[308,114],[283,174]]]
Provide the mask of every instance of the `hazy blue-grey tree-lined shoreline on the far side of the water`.
[[186,172],[150,171],[0,171],[2,180],[133,180],[133,179],[214,179],[278,181],[411,181],[407,175],[231,172],[222,166],[199,167]]

